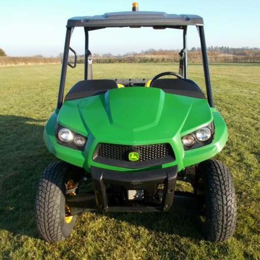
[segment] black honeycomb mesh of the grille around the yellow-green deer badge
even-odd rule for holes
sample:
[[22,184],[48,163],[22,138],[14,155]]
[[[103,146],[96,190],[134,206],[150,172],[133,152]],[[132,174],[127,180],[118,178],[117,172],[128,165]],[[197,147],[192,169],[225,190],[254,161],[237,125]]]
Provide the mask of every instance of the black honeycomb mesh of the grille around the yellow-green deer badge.
[[[110,143],[99,143],[95,151],[95,158],[102,157],[108,160],[129,161],[128,154],[133,150],[139,151],[139,161],[145,162],[170,156],[174,158],[174,152],[169,143],[159,143],[146,146],[122,146]],[[94,161],[95,161],[94,158]]]

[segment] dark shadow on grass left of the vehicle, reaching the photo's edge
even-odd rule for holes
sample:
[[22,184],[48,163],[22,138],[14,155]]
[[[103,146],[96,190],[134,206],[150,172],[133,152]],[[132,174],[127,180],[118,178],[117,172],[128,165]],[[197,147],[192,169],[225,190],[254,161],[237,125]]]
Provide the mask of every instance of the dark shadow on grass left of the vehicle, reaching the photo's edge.
[[0,229],[38,237],[35,195],[41,173],[53,157],[43,142],[46,120],[0,115]]

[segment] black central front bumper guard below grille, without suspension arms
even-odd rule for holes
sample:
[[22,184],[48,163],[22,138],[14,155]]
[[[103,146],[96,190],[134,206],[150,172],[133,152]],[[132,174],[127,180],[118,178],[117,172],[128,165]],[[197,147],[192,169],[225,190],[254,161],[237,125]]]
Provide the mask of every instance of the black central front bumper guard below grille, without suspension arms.
[[[174,201],[178,166],[145,171],[113,171],[91,167],[96,203],[105,212],[168,211]],[[158,189],[161,185],[161,189]],[[129,190],[142,190],[143,199],[128,200]]]

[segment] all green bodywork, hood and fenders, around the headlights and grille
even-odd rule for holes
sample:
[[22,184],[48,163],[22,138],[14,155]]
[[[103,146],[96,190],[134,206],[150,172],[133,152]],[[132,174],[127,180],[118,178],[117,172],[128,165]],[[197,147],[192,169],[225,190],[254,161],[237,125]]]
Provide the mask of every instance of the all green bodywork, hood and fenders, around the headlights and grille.
[[[213,142],[184,151],[181,137],[214,121]],[[60,125],[88,137],[84,151],[57,144],[55,126]],[[46,124],[44,140],[59,159],[84,167],[133,170],[104,165],[92,160],[99,142],[120,145],[170,143],[176,161],[156,167],[178,165],[178,169],[213,157],[225,145],[227,130],[221,115],[206,99],[164,93],[157,88],[120,88],[105,94],[65,101]],[[136,170],[136,169],[135,169]]]

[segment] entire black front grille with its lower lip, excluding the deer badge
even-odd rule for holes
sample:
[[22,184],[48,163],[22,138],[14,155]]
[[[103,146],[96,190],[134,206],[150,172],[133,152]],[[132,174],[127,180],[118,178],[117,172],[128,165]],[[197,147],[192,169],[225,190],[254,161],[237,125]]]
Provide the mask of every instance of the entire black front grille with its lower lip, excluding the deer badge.
[[[138,161],[129,161],[128,155],[132,151],[138,152]],[[145,146],[123,146],[99,143],[95,149],[93,160],[113,166],[138,168],[172,162],[175,160],[175,155],[169,143]]]

